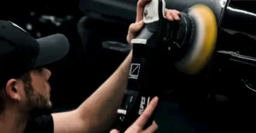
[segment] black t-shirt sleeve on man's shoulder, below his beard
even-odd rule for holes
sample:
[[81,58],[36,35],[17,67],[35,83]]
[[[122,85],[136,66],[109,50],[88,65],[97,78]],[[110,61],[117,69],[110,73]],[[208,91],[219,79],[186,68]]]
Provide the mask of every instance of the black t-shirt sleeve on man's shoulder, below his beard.
[[54,123],[51,115],[43,115],[28,120],[24,133],[53,133]]

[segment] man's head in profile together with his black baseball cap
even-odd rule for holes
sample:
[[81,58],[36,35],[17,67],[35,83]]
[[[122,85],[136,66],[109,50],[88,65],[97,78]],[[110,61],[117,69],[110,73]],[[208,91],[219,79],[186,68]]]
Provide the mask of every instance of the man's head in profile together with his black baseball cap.
[[34,39],[18,25],[0,20],[0,116],[8,109],[32,114],[51,108],[51,73],[44,66],[63,58],[68,49],[61,34]]

